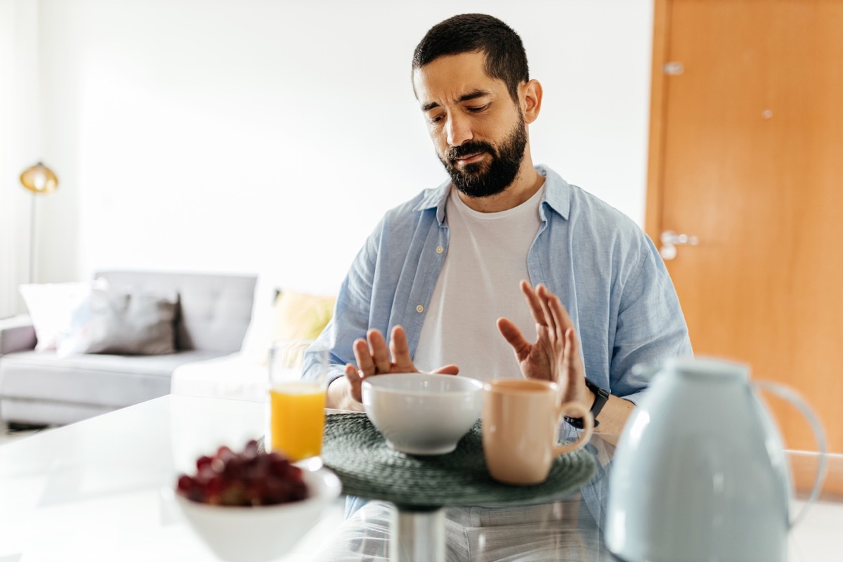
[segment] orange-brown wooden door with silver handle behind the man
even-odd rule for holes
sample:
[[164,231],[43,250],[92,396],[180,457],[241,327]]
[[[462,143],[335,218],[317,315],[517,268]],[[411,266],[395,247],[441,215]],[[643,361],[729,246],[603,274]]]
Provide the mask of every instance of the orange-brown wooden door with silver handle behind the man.
[[647,233],[699,238],[665,260],[695,355],[796,388],[843,452],[843,2],[655,6]]

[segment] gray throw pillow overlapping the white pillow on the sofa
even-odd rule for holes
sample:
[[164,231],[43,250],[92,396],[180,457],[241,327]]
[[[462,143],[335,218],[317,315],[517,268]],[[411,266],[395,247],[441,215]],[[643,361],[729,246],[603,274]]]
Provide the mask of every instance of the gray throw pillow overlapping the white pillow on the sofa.
[[175,353],[177,306],[177,296],[94,288],[59,335],[56,354]]

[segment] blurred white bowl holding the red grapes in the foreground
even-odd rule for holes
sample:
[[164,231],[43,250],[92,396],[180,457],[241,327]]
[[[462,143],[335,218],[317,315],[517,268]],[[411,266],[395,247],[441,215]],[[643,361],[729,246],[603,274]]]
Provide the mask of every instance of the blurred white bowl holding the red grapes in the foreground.
[[217,558],[266,562],[287,554],[340,495],[341,484],[327,468],[305,470],[309,496],[277,506],[211,506],[176,494],[187,522]]

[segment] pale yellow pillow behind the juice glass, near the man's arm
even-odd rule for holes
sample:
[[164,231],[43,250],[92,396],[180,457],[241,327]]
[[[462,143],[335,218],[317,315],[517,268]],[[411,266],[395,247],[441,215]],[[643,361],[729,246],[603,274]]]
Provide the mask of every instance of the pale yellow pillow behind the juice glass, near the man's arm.
[[[270,343],[277,340],[315,340],[334,313],[336,297],[283,291],[272,305]],[[261,365],[266,365],[267,356]]]

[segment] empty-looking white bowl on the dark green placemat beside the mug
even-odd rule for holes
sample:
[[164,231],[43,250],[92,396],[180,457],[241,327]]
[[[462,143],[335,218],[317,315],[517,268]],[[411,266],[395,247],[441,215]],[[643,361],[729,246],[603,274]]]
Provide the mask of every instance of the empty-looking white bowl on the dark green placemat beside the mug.
[[454,451],[480,417],[482,389],[474,378],[412,372],[366,378],[362,399],[389,447],[442,455]]

